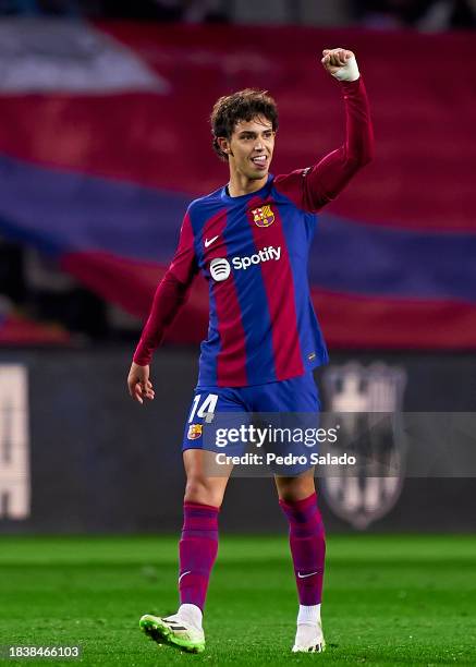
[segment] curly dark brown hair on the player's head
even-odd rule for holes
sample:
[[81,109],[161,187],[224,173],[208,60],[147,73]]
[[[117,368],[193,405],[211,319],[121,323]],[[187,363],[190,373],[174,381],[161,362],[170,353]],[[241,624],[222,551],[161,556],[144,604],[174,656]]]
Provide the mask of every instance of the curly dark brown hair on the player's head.
[[245,88],[232,95],[224,95],[215,102],[210,116],[213,150],[222,159],[228,160],[218,143],[218,137],[231,138],[234,126],[240,121],[251,121],[256,117],[264,117],[278,130],[278,106],[268,90]]

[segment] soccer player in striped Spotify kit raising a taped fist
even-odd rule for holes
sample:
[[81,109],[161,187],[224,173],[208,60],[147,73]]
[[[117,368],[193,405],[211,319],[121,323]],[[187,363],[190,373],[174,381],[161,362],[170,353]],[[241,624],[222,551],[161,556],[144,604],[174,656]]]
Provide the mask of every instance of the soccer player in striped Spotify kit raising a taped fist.
[[[136,401],[154,399],[152,352],[184,303],[195,274],[203,271],[209,282],[210,320],[183,439],[187,482],[180,541],[181,604],[173,616],[141,619],[141,628],[152,639],[190,652],[205,648],[203,609],[228,482],[227,475],[206,474],[211,454],[202,441],[205,415],[319,410],[313,368],[326,363],[328,355],[307,279],[315,214],[369,162],[374,149],[367,96],[354,53],[326,49],[321,63],[340,82],[346,137],[313,167],[285,175],[269,173],[278,113],[267,93],[245,89],[216,102],[213,148],[228,162],[230,180],[190,205],[127,378]],[[316,117],[319,122],[317,112]],[[321,652],[326,545],[314,475],[274,480],[290,525],[300,601],[293,652]]]

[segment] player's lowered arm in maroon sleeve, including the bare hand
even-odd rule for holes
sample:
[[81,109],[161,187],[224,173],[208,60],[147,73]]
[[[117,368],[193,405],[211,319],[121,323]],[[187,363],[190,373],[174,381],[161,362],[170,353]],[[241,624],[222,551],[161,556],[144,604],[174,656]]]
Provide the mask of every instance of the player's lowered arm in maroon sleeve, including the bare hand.
[[149,379],[154,351],[160,345],[167,328],[185,303],[197,270],[194,234],[187,213],[180,230],[179,246],[156,290],[150,314],[129,372],[129,393],[138,403],[143,403],[144,398],[154,399],[154,387]]

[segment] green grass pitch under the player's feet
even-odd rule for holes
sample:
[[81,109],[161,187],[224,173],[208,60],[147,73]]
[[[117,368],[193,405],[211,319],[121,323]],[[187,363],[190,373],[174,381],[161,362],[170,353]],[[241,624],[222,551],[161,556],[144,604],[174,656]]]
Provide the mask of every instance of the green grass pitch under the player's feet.
[[[295,584],[285,535],[223,535],[187,655],[138,630],[176,607],[172,537],[1,537],[0,644],[83,646],[82,665],[476,665],[476,537],[328,536],[328,650],[291,654]],[[77,660],[0,659],[2,665]]]

